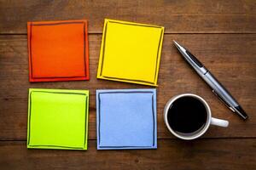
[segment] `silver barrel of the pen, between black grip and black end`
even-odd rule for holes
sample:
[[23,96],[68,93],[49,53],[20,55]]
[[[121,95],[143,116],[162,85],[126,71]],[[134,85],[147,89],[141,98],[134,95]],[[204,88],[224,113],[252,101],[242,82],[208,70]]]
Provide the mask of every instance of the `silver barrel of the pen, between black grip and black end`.
[[220,82],[218,82],[217,78],[215,78],[210,71],[208,71],[202,78],[212,88],[212,92],[216,94],[226,105],[229,107],[238,106],[236,99],[234,99],[230,92],[224,88]]

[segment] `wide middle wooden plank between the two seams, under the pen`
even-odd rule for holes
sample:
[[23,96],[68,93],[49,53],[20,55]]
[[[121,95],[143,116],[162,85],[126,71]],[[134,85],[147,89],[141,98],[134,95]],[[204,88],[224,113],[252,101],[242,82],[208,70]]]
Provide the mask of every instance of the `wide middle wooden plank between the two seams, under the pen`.
[[[28,88],[90,90],[89,138],[96,139],[95,90],[150,88],[96,79],[101,35],[90,35],[90,81],[28,82],[26,36],[0,37],[0,139],[26,139]],[[250,116],[243,122],[232,114],[178,54],[172,39],[183,43],[218,77]],[[169,34],[164,38],[157,88],[158,137],[173,138],[165,127],[163,109],[173,95],[199,94],[209,102],[212,115],[230,121],[230,127],[210,127],[206,138],[256,137],[256,34]]]

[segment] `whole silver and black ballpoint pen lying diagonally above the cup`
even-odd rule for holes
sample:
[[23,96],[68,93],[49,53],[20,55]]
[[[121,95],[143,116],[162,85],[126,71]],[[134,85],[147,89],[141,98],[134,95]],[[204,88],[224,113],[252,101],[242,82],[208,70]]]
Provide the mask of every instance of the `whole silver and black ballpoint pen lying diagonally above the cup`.
[[213,77],[212,73],[207,70],[207,68],[201,64],[201,62],[195,58],[193,54],[189,52],[188,49],[184,48],[177,42],[173,40],[178,51],[183,55],[183,58],[191,65],[197,74],[212,88],[213,94],[215,94],[218,99],[224,102],[224,104],[230,108],[231,111],[235,112],[241,116],[244,120],[247,119],[247,113],[243,111],[241,105],[238,104],[236,99],[228,92],[224,86],[218,82],[218,80]]

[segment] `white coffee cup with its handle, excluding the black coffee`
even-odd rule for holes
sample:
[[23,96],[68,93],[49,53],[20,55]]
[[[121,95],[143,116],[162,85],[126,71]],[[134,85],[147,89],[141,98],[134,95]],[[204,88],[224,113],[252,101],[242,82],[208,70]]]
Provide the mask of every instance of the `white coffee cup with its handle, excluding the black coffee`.
[[[195,99],[200,100],[201,103],[203,105],[205,105],[205,108],[207,110],[207,122],[205,123],[205,126],[202,127],[200,130],[195,131],[195,133],[189,133],[189,134],[187,134],[187,133],[177,133],[172,129],[172,127],[168,123],[167,116],[168,116],[168,111],[169,111],[170,106],[173,104],[174,101],[176,101],[177,99],[183,98],[183,97],[193,97]],[[200,96],[195,95],[195,94],[179,94],[179,95],[176,95],[176,96],[172,97],[172,99],[170,99],[166,103],[166,107],[165,107],[165,110],[164,110],[164,119],[165,119],[165,122],[166,122],[166,127],[168,127],[169,131],[174,136],[176,136],[177,138],[185,139],[185,140],[197,139],[197,138],[201,137],[201,135],[203,135],[204,133],[207,132],[207,129],[210,127],[210,124],[216,125],[216,126],[219,126],[219,127],[228,127],[229,126],[228,121],[213,118],[211,109],[210,109],[209,105],[207,104],[207,101],[205,99],[202,99]]]

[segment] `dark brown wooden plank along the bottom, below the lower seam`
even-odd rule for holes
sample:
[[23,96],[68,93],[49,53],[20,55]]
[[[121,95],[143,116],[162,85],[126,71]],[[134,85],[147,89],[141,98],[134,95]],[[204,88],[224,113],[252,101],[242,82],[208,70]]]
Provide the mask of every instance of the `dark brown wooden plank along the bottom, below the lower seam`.
[[[0,142],[2,170],[39,169],[254,169],[254,139],[158,141],[157,150],[27,150],[24,142]],[[12,154],[10,154],[12,153]]]

